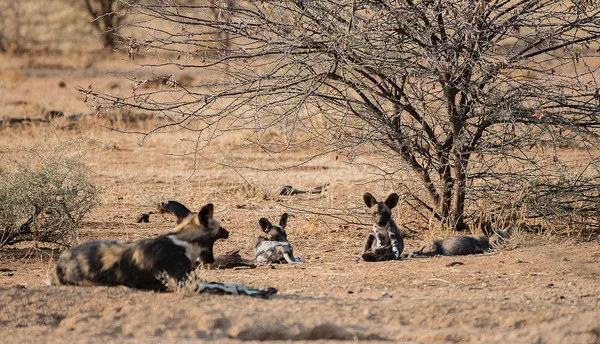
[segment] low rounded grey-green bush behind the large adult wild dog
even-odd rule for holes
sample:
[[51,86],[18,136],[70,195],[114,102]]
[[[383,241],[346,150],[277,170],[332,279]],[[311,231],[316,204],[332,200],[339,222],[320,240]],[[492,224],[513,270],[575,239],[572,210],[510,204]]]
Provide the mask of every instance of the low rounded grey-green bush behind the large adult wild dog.
[[99,190],[78,158],[26,151],[0,169],[0,247],[24,241],[70,246]]

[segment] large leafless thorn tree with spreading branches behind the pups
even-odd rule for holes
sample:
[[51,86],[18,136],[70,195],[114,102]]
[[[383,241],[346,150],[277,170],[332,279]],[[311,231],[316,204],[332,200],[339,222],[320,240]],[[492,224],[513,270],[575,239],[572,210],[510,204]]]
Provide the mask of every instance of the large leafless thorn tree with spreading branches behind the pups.
[[[420,181],[399,189],[424,219],[459,230],[482,199],[547,223],[598,211],[596,1],[125,3],[142,18],[131,24],[140,36],[124,37],[130,53],[159,59],[144,67],[206,76],[126,98],[82,90],[105,107],[164,114],[151,132],[197,130],[207,142],[251,129],[261,144],[278,126],[287,140],[267,151],[375,154],[386,176]],[[587,165],[561,147],[587,152]]]

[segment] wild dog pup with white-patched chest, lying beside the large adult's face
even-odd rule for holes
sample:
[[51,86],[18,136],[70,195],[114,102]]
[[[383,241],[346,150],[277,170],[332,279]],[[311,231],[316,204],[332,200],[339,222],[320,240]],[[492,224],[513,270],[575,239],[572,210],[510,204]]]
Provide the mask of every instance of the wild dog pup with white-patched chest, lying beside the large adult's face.
[[287,241],[287,218],[287,213],[281,215],[279,226],[271,224],[264,217],[258,220],[262,230],[254,245],[254,259],[258,263],[301,263],[299,259],[294,258],[292,244]]

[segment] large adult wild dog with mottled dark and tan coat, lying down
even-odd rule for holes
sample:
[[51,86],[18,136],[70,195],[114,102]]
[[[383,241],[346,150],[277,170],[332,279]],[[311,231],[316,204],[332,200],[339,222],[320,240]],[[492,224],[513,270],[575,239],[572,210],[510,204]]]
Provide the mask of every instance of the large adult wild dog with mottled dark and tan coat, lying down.
[[229,232],[213,218],[213,205],[192,213],[178,202],[162,204],[177,216],[170,233],[134,242],[90,241],[61,253],[51,277],[53,285],[125,285],[166,290],[159,275],[181,281],[198,261],[213,263],[213,244]]

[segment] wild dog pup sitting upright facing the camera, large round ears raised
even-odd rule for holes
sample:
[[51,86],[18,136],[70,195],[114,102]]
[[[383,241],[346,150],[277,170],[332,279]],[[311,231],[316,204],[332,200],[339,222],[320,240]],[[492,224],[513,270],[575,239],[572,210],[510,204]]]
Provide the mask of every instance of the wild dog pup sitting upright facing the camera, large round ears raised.
[[398,205],[398,199],[396,193],[389,195],[385,202],[378,202],[368,192],[363,195],[373,217],[373,233],[369,234],[362,253],[365,261],[400,259],[404,240],[402,232],[392,220],[392,209]]

